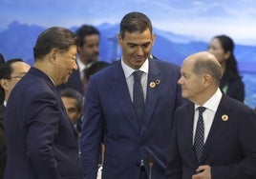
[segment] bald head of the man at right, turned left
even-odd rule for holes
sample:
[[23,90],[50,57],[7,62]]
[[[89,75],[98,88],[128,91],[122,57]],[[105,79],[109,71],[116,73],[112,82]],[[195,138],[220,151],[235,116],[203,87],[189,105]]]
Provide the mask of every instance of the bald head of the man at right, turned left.
[[181,95],[195,104],[203,105],[219,88],[222,67],[216,57],[206,51],[184,59],[181,66]]

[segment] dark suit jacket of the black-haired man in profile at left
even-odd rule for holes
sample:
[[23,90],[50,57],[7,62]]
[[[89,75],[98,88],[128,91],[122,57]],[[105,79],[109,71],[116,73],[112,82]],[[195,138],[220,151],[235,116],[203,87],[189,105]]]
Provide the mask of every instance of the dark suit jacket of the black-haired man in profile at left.
[[5,179],[82,178],[75,129],[44,72],[32,68],[12,89],[5,124]]

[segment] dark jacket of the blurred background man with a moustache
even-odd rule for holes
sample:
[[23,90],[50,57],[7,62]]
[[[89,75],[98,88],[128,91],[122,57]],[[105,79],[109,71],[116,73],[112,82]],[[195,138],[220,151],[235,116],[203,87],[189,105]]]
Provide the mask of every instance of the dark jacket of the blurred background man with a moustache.
[[79,70],[75,70],[70,76],[69,81],[66,84],[57,86],[57,89],[75,89],[81,94],[84,94]]

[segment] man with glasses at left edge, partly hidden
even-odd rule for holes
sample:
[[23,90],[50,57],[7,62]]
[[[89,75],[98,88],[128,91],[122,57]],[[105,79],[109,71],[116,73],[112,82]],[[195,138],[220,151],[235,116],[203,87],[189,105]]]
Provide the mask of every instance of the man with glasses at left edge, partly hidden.
[[16,83],[30,70],[31,66],[22,59],[7,61],[0,67],[0,179],[4,177],[7,161],[4,112],[11,90]]

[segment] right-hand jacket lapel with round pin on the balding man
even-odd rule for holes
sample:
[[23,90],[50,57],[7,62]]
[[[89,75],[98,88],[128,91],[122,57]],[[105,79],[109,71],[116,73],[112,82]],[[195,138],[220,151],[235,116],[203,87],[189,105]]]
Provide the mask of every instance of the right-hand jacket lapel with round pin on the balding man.
[[226,99],[227,99],[226,96],[223,94],[222,100],[214,116],[211,129],[209,131],[208,137],[206,139],[206,142],[203,148],[202,161],[206,159],[207,155],[210,153],[212,149],[212,146],[215,145],[215,142],[219,139],[219,137],[222,135],[222,133],[226,129],[227,123],[224,122],[222,119],[222,116],[224,114],[229,115],[229,111],[230,111],[230,107]]

